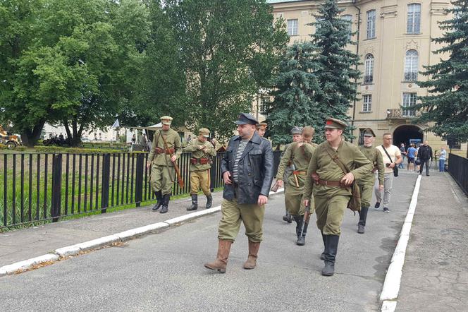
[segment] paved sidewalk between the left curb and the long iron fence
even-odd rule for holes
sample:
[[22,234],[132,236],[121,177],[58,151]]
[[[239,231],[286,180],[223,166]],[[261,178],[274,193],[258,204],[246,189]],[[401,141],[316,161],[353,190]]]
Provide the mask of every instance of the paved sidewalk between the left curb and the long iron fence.
[[[213,193],[213,207],[221,205],[222,195],[222,192]],[[198,200],[198,211],[204,210],[206,197],[199,196]],[[191,198],[173,200],[165,214],[153,212],[153,205],[150,205],[0,233],[0,268],[42,256],[57,248],[186,215],[192,212],[186,210],[191,203]]]

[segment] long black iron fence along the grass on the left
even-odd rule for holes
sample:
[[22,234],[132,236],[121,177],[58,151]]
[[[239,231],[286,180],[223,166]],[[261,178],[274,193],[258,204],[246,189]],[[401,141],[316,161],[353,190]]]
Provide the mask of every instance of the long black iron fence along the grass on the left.
[[[280,155],[274,152],[275,174]],[[222,157],[214,157],[211,188],[223,186]],[[149,204],[155,197],[147,158],[143,152],[0,154],[0,229]],[[178,164],[185,186],[174,184],[173,196],[190,193],[190,153]]]

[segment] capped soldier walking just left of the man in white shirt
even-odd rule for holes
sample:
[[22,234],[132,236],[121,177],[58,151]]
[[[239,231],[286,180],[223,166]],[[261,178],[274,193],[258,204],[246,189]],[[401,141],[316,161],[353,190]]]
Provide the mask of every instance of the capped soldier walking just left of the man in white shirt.
[[374,164],[374,169],[369,174],[364,175],[361,179],[357,180],[359,186],[359,192],[361,193],[361,211],[359,211],[359,223],[357,224],[357,232],[359,234],[364,233],[364,227],[366,227],[367,212],[371,205],[372,190],[374,189],[374,183],[376,176],[374,172],[378,172],[378,188],[383,191],[383,177],[385,172],[385,166],[383,165],[382,154],[379,150],[372,146],[376,135],[371,128],[364,129],[364,145],[359,148],[362,154],[367,157],[368,160]]

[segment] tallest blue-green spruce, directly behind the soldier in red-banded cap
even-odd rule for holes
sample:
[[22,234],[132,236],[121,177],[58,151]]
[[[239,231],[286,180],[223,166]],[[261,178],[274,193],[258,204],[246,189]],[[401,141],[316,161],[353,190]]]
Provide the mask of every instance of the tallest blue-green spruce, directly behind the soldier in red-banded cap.
[[[343,9],[338,8],[337,1],[326,0],[321,4],[314,25],[316,32],[311,35],[312,43],[318,49],[316,61],[319,64],[316,76],[319,80],[319,92],[314,99],[319,105],[321,122],[315,125],[316,133],[324,133],[327,116],[341,119],[349,123],[347,114],[352,102],[357,100],[357,79],[361,73],[357,70],[359,56],[351,52],[350,21],[340,17]],[[352,128],[347,127],[345,137],[352,138]],[[323,136],[316,136],[316,141],[324,140]]]

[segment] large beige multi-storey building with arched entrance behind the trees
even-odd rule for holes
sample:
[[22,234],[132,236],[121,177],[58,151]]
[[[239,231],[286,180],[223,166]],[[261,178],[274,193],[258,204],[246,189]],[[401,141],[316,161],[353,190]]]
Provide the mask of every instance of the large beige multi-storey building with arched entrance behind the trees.
[[[321,1],[268,0],[275,18],[283,18],[287,25],[290,43],[310,40],[315,29],[307,25],[315,21]],[[393,143],[429,140],[433,150],[440,150],[447,142],[426,131],[429,125],[413,124],[417,111],[402,110],[417,102],[417,96],[427,95],[419,88],[419,74],[424,65],[436,64],[440,56],[432,51],[438,45],[431,38],[441,37],[438,21],[449,16],[444,8],[450,1],[431,0],[357,0],[338,1],[344,9],[341,16],[351,21],[357,34],[352,38],[357,45],[350,46],[361,57],[362,80],[359,81],[359,102],[350,109],[352,124],[362,142],[362,131],[370,127],[381,143],[383,133],[393,133]],[[261,112],[262,100],[257,107]],[[453,152],[466,155],[467,144],[456,146]]]

